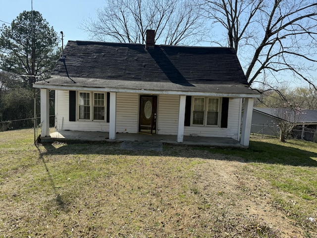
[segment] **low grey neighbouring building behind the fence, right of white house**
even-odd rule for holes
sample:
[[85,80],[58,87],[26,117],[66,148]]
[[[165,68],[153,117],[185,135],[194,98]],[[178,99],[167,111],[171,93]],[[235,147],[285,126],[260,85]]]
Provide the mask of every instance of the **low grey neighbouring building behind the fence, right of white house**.
[[287,120],[296,123],[293,129],[293,137],[308,141],[316,140],[317,129],[317,110],[301,110],[298,117],[285,117],[285,108],[254,108],[252,114],[252,133],[261,133],[266,135],[278,135],[279,121]]

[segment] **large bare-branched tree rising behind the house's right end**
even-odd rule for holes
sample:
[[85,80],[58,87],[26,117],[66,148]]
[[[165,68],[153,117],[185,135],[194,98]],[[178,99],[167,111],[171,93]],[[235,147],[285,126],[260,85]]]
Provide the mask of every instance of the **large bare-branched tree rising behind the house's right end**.
[[205,0],[205,10],[226,33],[213,43],[236,50],[249,86],[272,87],[288,72],[317,90],[316,0]]

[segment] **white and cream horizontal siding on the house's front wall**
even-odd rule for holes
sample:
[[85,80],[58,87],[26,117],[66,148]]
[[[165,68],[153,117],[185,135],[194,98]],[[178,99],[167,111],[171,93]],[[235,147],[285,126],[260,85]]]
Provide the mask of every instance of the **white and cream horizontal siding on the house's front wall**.
[[[106,97],[106,92],[105,92]],[[221,108],[221,105],[219,106]],[[78,108],[77,108],[78,110]],[[229,99],[228,126],[185,126],[184,135],[231,137],[239,139],[240,99]],[[157,133],[177,135],[179,95],[158,95]],[[219,111],[219,114],[221,112]],[[105,121],[69,121],[69,92],[55,91],[55,128],[56,130],[109,131]],[[106,115],[105,115],[106,117]],[[117,93],[116,132],[138,133],[139,94]]]

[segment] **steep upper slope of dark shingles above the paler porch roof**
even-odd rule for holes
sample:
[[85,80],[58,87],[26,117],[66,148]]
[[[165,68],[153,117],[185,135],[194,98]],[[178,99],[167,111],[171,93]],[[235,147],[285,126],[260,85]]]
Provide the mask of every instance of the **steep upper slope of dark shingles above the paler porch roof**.
[[[231,48],[155,46],[69,41],[53,75],[191,83],[247,84]],[[68,73],[68,74],[67,74]]]

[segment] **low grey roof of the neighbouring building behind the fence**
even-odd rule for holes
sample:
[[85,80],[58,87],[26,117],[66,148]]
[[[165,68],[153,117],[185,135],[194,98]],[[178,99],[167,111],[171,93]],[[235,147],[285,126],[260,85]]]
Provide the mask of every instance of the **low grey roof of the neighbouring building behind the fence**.
[[[285,112],[289,112],[289,109],[285,108],[254,108],[253,110],[277,119]],[[317,123],[317,110],[300,110],[299,113],[300,116],[296,117],[297,123]],[[289,119],[292,119],[292,117],[289,117]]]

